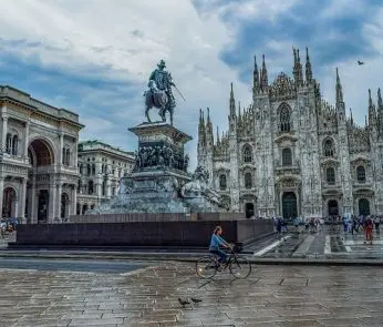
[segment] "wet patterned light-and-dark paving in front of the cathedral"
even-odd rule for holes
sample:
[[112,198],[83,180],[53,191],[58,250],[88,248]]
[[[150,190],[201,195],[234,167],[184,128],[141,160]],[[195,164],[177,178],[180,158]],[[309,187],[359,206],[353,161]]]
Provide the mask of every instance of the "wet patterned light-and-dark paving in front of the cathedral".
[[319,233],[294,233],[289,226],[283,237],[273,236],[258,242],[246,251],[258,257],[327,257],[327,258],[383,258],[383,232],[373,233],[372,244],[364,243],[362,229],[352,235],[343,233],[342,226],[322,226]]

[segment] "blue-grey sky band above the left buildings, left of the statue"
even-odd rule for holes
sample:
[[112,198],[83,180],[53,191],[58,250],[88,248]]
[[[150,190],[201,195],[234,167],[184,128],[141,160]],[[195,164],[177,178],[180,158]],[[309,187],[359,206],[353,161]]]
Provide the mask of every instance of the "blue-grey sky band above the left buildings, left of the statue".
[[[21,60],[14,55],[0,53],[0,84],[22,90],[32,98],[42,100],[58,108],[66,108],[79,113],[80,121],[86,125],[84,117],[100,117],[113,123],[113,131],[103,135],[92,134],[92,126],[85,126],[86,137],[103,139],[126,150],[135,147],[135,136],[126,132],[127,122],[118,117],[120,112],[142,110],[142,90],[136,83],[103,79],[107,65],[87,67],[94,73],[76,74],[43,67],[39,60]],[[97,72],[97,73],[95,73]],[[118,137],[114,137],[116,131]]]

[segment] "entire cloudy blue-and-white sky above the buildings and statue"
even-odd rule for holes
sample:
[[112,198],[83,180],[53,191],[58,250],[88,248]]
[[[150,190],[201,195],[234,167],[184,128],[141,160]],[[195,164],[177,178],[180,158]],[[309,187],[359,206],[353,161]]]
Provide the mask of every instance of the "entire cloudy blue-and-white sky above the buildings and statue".
[[301,59],[309,47],[323,98],[334,102],[339,67],[345,105],[361,124],[368,89],[375,98],[383,86],[377,0],[0,2],[0,83],[77,112],[82,140],[128,151],[136,139],[127,127],[144,120],[142,95],[161,59],[186,98],[177,98],[175,124],[195,137],[192,157],[199,108],[209,106],[225,130],[231,81],[236,100],[250,104],[255,54],[259,62],[266,54],[271,82],[281,71],[291,75],[292,47]]

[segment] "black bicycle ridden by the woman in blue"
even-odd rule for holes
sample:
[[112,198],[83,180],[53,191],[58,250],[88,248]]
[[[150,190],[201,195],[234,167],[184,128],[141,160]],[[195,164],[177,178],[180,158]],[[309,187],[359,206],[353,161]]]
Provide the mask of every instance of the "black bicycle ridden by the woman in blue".
[[228,254],[227,262],[222,266],[215,254],[201,257],[196,262],[197,275],[201,278],[213,278],[219,272],[219,267],[222,267],[222,270],[229,268],[230,274],[236,278],[247,278],[251,274],[250,262],[245,257],[239,257],[234,247]]

